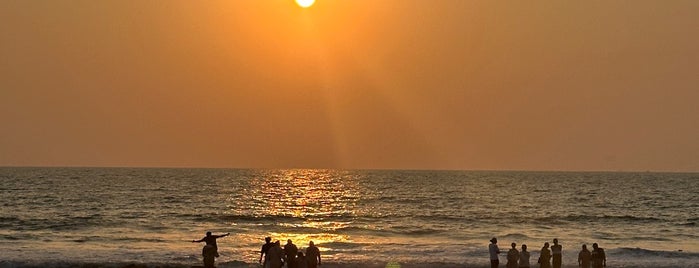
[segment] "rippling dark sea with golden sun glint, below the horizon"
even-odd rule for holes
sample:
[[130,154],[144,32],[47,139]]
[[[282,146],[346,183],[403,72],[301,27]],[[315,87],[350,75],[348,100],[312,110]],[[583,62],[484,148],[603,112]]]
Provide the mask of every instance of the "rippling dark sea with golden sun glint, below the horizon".
[[[321,267],[489,267],[488,244],[544,242],[577,267],[699,267],[699,174],[0,168],[0,267],[258,267],[266,236]],[[501,256],[501,266],[505,263]]]

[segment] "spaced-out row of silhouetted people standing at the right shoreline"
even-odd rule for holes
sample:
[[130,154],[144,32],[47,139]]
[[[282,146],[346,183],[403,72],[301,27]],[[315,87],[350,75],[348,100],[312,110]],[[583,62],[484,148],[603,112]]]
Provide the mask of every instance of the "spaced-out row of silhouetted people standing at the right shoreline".
[[[512,243],[512,248],[507,252],[507,268],[530,268],[529,251],[527,245],[522,245],[522,251],[517,250],[517,244]],[[558,244],[558,239],[553,240],[553,246],[549,242],[544,243],[541,248],[537,263],[540,268],[561,268],[563,265],[563,246]],[[490,267],[498,268],[500,260],[500,248],[498,248],[498,239],[493,237],[490,239],[488,246],[490,252]],[[553,262],[552,262],[553,261]],[[587,245],[582,245],[582,250],[578,253],[578,266],[582,268],[602,268],[607,266],[607,256],[604,254],[604,249],[597,246],[597,243],[592,244],[592,251],[587,249]]]

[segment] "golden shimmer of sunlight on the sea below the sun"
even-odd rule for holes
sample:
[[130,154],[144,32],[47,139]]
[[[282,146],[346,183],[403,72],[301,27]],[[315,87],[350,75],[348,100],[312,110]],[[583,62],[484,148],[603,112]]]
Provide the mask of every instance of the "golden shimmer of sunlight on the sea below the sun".
[[259,223],[269,225],[269,231],[238,237],[260,245],[264,236],[282,245],[291,239],[300,249],[313,241],[321,251],[328,249],[324,244],[354,242],[338,232],[352,224],[358,212],[359,182],[348,176],[336,170],[286,170],[252,178],[243,198],[229,198],[234,202],[230,212],[270,219]]

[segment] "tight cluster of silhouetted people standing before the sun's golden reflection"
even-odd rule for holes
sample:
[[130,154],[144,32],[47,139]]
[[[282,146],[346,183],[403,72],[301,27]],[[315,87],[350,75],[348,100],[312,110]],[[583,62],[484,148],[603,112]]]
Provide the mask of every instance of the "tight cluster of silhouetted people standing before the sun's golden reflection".
[[304,255],[303,251],[299,250],[291,239],[287,240],[286,245],[282,248],[279,240],[272,243],[271,237],[265,237],[265,244],[260,250],[262,267],[281,268],[285,263],[288,268],[317,268],[321,263],[320,250],[313,244],[313,241],[310,241]]

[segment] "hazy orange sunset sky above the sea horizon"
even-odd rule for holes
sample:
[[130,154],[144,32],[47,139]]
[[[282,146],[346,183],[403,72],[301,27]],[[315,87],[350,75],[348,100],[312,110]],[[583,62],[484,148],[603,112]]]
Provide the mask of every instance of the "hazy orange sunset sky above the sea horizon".
[[699,171],[699,1],[0,1],[0,166]]

